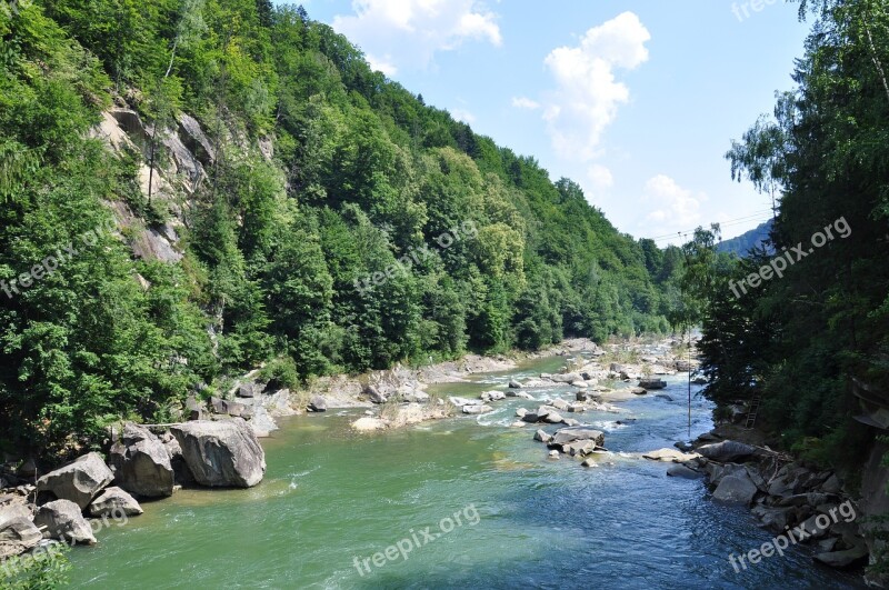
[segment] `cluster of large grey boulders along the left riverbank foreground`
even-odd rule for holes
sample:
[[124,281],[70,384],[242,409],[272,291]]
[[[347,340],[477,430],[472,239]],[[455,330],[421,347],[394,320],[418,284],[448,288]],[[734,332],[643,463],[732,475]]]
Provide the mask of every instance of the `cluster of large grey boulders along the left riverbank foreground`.
[[264,473],[266,453],[241,418],[127,423],[107,459],[90,452],[33,483],[2,472],[0,560],[52,554],[60,542],[96,544],[94,532],[109,517],[141,514],[140,500],[170,497],[182,486],[251,488]]

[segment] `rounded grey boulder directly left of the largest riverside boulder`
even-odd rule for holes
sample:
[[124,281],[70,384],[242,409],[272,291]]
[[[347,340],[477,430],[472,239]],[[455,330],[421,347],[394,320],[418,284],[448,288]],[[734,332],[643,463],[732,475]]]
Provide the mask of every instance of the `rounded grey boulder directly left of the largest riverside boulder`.
[[114,482],[138,496],[166,498],[173,493],[173,468],[163,443],[144,427],[127,423],[111,447],[108,464]]

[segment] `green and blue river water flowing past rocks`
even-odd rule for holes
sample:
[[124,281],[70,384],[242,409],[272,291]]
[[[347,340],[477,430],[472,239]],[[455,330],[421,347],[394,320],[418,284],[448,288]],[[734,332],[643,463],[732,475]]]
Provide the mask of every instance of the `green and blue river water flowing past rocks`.
[[[477,397],[562,360],[439,390]],[[539,406],[526,400],[384,434],[352,432],[360,410],[283,420],[263,441],[260,486],[143,503],[143,516],[101,530],[99,546],[72,551],[72,587],[861,588],[815,566],[807,548],[732,569],[730,553],[772,533],[747,509],[713,503],[702,481],[629,454],[689,439],[686,377],[667,380],[672,402],[649,394],[619,414],[578,416],[613,453],[597,468],[548,459],[536,427],[509,428],[517,408]],[[710,411],[695,396],[691,438],[712,427]]]

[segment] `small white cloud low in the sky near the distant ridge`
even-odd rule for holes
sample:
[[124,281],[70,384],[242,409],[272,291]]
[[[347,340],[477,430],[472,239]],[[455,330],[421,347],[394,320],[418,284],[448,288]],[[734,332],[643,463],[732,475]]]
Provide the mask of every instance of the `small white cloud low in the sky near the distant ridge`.
[[642,201],[651,208],[640,227],[643,234],[666,234],[695,228],[700,224],[701,201],[706,194],[692,194],[672,178],[658,174],[646,182]]

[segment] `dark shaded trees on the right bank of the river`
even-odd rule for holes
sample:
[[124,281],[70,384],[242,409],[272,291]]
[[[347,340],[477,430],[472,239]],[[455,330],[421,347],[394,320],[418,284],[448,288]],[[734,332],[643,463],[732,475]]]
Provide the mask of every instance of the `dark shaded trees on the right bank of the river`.
[[[759,427],[851,479],[873,428],[856,390],[889,388],[889,14],[871,0],[803,1],[813,19],[796,88],[726,154],[732,176],[773,196],[769,243],[743,259],[716,254],[718,231],[686,246],[707,394],[762,400]],[[842,234],[828,229],[845,226]],[[781,276],[736,297],[730,284],[787,260]],[[740,291],[739,291],[740,292]]]

